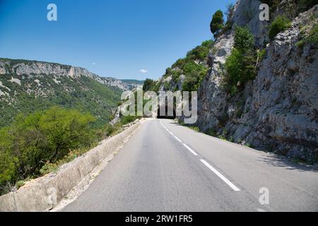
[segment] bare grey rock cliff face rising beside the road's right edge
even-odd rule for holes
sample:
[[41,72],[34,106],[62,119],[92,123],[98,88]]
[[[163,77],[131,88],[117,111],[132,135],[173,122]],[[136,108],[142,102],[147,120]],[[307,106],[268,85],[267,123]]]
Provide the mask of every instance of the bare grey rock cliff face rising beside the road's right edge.
[[[232,28],[220,35],[211,48],[208,57],[211,69],[199,88],[197,126],[213,136],[259,150],[317,162],[317,47],[310,43],[297,44],[317,25],[317,6],[293,18],[291,27],[270,41],[270,22],[259,20],[260,4],[257,0],[237,1],[228,18]],[[290,11],[293,4],[293,1],[281,1],[271,16],[295,14]],[[234,44],[235,24],[247,25],[256,47],[265,48],[266,55],[257,78],[232,96],[225,92],[222,80],[225,59]]]

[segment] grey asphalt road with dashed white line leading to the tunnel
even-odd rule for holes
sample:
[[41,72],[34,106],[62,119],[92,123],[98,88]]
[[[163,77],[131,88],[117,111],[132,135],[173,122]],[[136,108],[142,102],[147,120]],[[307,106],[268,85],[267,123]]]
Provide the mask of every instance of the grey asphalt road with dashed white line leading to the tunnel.
[[318,172],[148,119],[64,211],[318,211]]

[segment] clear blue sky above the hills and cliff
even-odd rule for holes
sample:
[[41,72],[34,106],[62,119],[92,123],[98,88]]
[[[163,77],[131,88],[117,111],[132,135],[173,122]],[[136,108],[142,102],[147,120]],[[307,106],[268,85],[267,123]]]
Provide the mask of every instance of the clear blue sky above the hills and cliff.
[[[0,0],[0,57],[81,66],[100,76],[159,78],[211,39],[235,0]],[[47,5],[57,4],[57,21]]]

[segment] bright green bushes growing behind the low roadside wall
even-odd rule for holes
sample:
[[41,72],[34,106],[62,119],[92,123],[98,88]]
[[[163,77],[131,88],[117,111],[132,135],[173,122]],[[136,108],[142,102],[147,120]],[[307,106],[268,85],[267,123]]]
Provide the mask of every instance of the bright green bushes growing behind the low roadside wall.
[[18,114],[10,126],[0,129],[0,194],[56,171],[134,120],[123,117],[114,126],[95,129],[95,117],[75,109],[51,107]]

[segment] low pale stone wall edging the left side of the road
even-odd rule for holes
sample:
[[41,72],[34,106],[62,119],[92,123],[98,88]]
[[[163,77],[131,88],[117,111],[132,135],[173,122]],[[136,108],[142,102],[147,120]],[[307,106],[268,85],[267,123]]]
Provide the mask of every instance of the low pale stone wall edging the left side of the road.
[[105,157],[112,154],[126,138],[139,129],[139,126],[140,122],[137,122],[122,133],[102,141],[98,147],[62,166],[57,174],[47,174],[18,191],[0,196],[0,211],[34,212],[52,209],[73,186],[81,182]]

